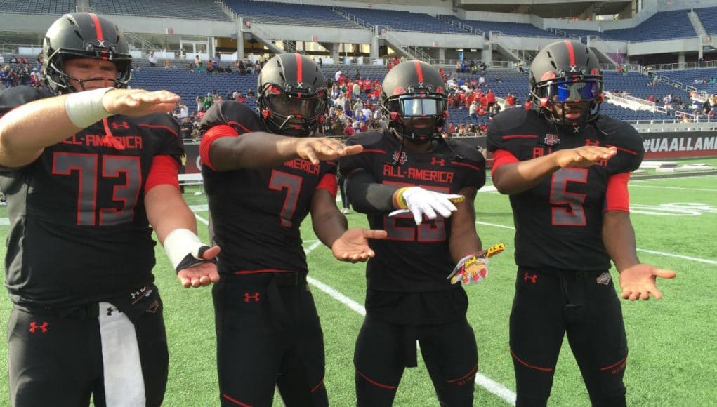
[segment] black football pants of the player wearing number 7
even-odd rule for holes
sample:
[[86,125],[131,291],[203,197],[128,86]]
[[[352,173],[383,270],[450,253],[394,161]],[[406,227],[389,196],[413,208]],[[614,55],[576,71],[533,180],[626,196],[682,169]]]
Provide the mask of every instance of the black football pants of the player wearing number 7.
[[222,274],[214,284],[222,406],[328,406],[323,332],[305,274]]

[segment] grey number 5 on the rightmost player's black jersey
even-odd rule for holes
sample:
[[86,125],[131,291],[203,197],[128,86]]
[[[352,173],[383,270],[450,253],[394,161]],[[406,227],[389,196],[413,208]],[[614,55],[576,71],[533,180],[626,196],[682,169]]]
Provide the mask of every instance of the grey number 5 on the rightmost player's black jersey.
[[554,225],[585,226],[583,204],[586,195],[566,191],[569,182],[587,183],[586,168],[561,168],[550,183],[551,219]]

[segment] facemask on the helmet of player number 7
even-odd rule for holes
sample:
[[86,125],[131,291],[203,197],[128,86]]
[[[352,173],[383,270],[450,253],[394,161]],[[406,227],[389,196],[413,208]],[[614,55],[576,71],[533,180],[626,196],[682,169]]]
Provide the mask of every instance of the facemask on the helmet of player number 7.
[[262,118],[272,133],[308,137],[315,133],[326,118],[328,92],[320,87],[314,92],[287,85],[286,90],[266,83],[257,104]]

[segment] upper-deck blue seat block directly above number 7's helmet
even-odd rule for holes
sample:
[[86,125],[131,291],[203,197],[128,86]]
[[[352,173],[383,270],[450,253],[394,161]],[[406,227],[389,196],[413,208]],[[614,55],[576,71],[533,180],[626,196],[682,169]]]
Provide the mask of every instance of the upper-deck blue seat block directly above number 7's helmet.
[[271,3],[268,1],[226,0],[232,10],[244,17],[271,24],[308,25],[318,27],[353,27],[331,7],[310,4]]

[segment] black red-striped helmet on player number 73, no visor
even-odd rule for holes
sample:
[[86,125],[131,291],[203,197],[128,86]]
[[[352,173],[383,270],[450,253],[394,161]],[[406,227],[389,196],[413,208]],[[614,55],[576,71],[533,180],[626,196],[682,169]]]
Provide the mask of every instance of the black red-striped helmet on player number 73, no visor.
[[115,63],[118,74],[110,79],[115,87],[127,87],[132,77],[132,56],[125,34],[112,21],[92,13],[72,13],[60,17],[47,30],[42,43],[47,85],[57,94],[75,92],[68,80],[105,80],[94,77],[78,80],[65,73],[65,61],[73,58],[106,59]]

